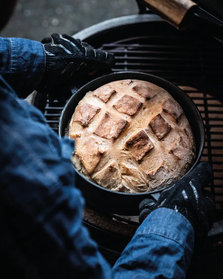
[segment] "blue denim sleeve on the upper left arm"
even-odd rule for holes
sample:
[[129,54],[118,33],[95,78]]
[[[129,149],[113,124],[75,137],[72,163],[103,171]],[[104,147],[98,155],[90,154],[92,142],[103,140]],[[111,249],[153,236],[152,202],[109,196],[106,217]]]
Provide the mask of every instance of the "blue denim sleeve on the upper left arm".
[[45,72],[43,44],[0,37],[0,54],[3,56],[0,74],[20,98],[27,97],[37,88]]

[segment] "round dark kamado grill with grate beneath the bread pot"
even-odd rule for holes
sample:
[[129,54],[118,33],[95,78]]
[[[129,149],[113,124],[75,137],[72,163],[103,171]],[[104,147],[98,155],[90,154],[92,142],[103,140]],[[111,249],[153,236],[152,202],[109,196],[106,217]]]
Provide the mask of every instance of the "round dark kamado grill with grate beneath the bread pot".
[[[74,37],[115,54],[117,63],[113,71],[139,71],[162,77],[178,85],[197,105],[206,129],[201,161],[209,162],[214,169],[210,191],[216,197],[217,216],[203,251],[192,261],[188,278],[222,278],[223,45],[206,31],[178,31],[151,13],[108,20]],[[101,74],[74,80],[72,92]],[[49,125],[58,132],[63,106],[43,99],[38,93],[34,105],[43,110]],[[138,217],[106,214],[88,205],[84,215],[85,225],[110,264],[134,235],[137,222]]]

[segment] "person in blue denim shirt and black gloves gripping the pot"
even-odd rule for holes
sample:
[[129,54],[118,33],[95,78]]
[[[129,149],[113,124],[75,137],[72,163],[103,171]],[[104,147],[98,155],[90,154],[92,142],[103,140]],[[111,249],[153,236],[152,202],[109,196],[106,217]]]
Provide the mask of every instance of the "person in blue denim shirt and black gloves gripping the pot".
[[[1,28],[15,3],[4,2]],[[42,112],[19,97],[38,89],[54,98],[54,88],[68,77],[111,67],[114,57],[67,35],[53,34],[42,43],[0,42],[2,273],[9,278],[185,278],[193,250],[213,225],[215,201],[204,190],[210,166],[200,163],[157,203],[142,201],[141,225],[111,268],[81,220],[84,199],[70,161],[74,142],[60,139]]]

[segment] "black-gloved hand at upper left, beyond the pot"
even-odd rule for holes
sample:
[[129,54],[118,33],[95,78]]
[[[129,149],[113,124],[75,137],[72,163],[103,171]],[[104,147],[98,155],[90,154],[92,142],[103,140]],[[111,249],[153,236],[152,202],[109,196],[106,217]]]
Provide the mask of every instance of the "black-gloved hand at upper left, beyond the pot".
[[42,44],[46,54],[46,69],[36,90],[47,93],[51,100],[65,94],[64,82],[73,73],[77,75],[94,69],[111,68],[115,64],[115,57],[112,54],[96,50],[89,44],[66,34],[52,34],[44,38]]

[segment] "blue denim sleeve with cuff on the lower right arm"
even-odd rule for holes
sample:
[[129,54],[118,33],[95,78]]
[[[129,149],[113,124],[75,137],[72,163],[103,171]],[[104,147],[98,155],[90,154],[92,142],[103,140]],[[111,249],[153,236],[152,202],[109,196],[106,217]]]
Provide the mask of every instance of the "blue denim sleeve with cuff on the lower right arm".
[[180,213],[158,208],[144,220],[113,267],[114,279],[185,278],[194,231]]

